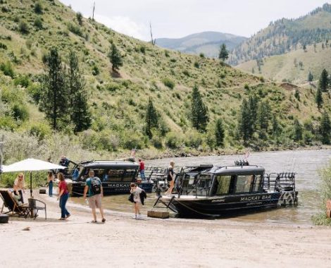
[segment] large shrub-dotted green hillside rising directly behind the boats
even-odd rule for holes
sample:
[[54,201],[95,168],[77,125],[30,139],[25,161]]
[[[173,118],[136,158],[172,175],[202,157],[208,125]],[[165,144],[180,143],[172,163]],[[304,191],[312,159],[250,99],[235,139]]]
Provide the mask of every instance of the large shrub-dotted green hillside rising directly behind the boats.
[[[127,156],[132,148],[147,158],[234,152],[245,146],[262,150],[320,144],[320,111],[312,90],[300,88],[299,100],[295,88],[214,59],[160,49],[91,19],[82,18],[80,25],[79,16],[56,0],[1,0],[0,13],[0,134],[5,135],[7,163],[24,157],[57,161],[61,154],[76,160]],[[111,44],[123,57],[119,73],[111,71],[107,56]],[[92,113],[92,126],[82,132],[73,133],[70,123],[54,132],[42,112],[43,62],[51,47],[58,48],[64,63],[68,64],[70,50],[79,58]],[[194,85],[208,107],[206,131],[197,131],[190,120]],[[254,122],[249,140],[243,140],[238,128],[240,109],[250,96],[256,96],[256,112],[263,124],[260,128]],[[330,111],[330,101],[323,97],[323,107]],[[145,130],[149,99],[160,115],[151,138]],[[268,107],[268,115],[263,107]],[[273,114],[277,133],[269,116]],[[219,118],[225,140],[216,145]],[[299,138],[293,130],[296,118],[304,129]]]

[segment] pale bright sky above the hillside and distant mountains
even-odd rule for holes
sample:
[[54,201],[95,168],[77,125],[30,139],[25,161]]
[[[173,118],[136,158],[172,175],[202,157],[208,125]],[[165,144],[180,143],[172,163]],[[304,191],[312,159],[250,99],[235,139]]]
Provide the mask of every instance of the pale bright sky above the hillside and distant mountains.
[[60,0],[99,23],[131,37],[180,38],[216,31],[250,37],[270,21],[298,18],[326,0]]

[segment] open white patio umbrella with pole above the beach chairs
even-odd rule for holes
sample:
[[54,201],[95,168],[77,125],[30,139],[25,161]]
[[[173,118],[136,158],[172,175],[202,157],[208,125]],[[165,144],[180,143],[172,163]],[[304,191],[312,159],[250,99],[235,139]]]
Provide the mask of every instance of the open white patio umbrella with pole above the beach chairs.
[[17,172],[17,171],[31,171],[30,172],[30,194],[32,196],[32,171],[42,171],[49,169],[66,169],[66,166],[60,166],[50,162],[42,161],[39,159],[25,159],[20,162],[13,163],[8,166],[3,166],[3,173]]

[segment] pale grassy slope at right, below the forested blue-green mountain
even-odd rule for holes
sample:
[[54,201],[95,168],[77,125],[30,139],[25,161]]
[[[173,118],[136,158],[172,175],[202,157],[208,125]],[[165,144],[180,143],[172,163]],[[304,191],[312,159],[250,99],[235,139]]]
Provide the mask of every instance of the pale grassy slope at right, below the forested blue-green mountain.
[[296,49],[286,54],[269,56],[261,61],[246,61],[236,68],[247,73],[263,75],[265,78],[278,82],[288,81],[296,85],[306,83],[308,73],[318,80],[323,68],[329,70],[331,62],[331,47],[325,42]]

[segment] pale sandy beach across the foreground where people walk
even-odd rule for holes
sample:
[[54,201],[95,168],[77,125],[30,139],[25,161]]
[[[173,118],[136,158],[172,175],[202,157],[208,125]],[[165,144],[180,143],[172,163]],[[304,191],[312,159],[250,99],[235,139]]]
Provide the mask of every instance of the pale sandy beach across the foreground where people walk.
[[0,224],[0,267],[331,267],[328,227],[135,220],[109,210],[105,224],[92,224],[89,209],[73,202],[72,216],[58,221],[56,197],[35,198],[46,202],[47,220],[41,212],[36,220],[10,217]]

